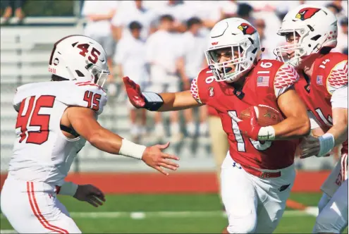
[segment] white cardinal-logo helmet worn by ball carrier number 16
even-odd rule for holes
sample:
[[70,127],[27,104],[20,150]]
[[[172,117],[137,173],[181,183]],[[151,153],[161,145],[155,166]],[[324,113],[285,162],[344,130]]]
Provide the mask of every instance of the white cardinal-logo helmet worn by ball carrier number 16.
[[[231,60],[220,62],[220,49],[231,50]],[[226,18],[212,28],[205,55],[216,81],[235,82],[252,68],[259,51],[255,27],[242,18]]]

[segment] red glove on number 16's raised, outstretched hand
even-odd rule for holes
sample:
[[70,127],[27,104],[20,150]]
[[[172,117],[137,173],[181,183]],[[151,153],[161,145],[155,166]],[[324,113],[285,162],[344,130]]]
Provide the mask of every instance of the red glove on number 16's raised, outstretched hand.
[[133,80],[130,80],[128,76],[123,78],[123,83],[125,84],[125,89],[130,99],[130,103],[133,104],[136,108],[145,107],[145,97],[140,91],[140,85],[136,84]]

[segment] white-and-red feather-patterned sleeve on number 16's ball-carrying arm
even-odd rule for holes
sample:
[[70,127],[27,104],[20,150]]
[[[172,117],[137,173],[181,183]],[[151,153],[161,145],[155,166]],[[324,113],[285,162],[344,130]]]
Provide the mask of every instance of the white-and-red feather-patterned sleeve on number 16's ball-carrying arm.
[[286,92],[299,79],[299,75],[293,66],[284,63],[275,74],[274,92],[276,98]]

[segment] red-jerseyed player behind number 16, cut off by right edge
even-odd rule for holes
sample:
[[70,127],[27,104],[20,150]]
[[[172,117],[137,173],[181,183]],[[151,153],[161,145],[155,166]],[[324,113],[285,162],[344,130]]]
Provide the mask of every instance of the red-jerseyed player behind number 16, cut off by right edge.
[[326,156],[343,143],[341,160],[322,185],[314,233],[340,233],[348,226],[348,55],[331,53],[337,45],[337,19],[327,8],[301,5],[283,19],[279,60],[300,73],[295,90],[307,105],[312,136],[301,144],[301,158]]

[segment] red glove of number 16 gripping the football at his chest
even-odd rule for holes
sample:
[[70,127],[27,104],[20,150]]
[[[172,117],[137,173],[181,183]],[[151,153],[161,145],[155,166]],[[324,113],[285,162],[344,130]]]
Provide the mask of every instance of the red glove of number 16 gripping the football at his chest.
[[259,130],[262,128],[261,125],[257,123],[256,111],[254,108],[250,109],[250,118],[245,120],[240,120],[240,118],[230,115],[233,121],[238,123],[239,129],[243,135],[251,138],[252,140],[258,140]]

